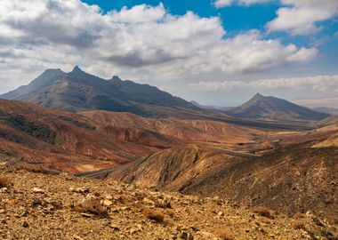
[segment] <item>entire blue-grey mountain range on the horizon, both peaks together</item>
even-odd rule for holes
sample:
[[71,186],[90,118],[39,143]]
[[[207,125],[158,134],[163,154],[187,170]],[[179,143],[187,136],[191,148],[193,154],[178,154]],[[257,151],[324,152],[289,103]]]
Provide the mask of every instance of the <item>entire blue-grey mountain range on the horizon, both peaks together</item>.
[[72,112],[108,110],[139,116],[207,119],[221,115],[223,121],[229,121],[228,116],[267,121],[320,120],[329,116],[286,100],[263,97],[259,93],[237,108],[203,108],[195,101],[182,100],[157,87],[123,81],[118,76],[105,80],[87,74],[77,66],[69,73],[60,69],[45,70],[30,84],[0,95],[0,98],[24,100]]

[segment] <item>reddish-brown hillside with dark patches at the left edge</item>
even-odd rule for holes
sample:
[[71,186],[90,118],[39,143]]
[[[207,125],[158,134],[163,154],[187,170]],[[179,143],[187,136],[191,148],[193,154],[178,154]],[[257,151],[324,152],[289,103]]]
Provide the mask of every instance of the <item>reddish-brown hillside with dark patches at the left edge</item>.
[[[122,136],[128,132],[133,138]],[[85,172],[124,164],[179,143],[157,132],[108,130],[85,116],[0,100],[1,162]]]

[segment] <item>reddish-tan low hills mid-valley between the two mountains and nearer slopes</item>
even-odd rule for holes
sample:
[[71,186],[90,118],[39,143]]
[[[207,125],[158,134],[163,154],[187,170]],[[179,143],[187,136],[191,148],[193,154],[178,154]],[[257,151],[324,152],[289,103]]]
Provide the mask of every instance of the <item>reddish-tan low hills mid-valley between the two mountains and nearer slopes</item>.
[[108,128],[143,129],[185,142],[213,142],[229,148],[234,148],[237,143],[254,142],[254,139],[264,135],[263,130],[208,120],[151,118],[107,111],[85,111],[79,114]]

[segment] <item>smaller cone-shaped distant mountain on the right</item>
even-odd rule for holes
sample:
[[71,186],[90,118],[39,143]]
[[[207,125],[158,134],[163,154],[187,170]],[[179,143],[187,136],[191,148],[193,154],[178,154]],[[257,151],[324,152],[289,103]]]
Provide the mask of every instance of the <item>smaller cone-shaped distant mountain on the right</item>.
[[321,120],[329,116],[326,113],[319,113],[310,108],[295,105],[287,100],[264,97],[260,93],[255,94],[245,104],[229,109],[227,113],[230,116],[250,119],[287,121]]

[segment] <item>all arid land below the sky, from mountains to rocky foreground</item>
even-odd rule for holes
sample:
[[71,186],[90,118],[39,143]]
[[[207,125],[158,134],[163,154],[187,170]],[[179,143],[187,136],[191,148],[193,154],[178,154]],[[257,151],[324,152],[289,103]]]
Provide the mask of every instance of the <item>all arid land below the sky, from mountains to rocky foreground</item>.
[[[96,106],[107,91],[125,107]],[[4,239],[337,239],[337,116],[260,94],[200,108],[79,68],[5,96],[43,106],[0,100]]]

